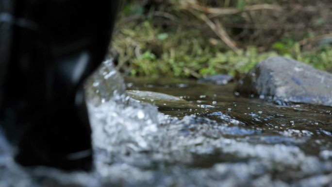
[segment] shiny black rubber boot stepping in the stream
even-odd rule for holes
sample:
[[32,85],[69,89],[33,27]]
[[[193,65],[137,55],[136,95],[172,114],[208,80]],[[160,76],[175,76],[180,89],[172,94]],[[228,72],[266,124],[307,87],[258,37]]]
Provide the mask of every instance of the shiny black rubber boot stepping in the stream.
[[117,9],[117,0],[0,0],[0,118],[18,163],[91,168],[82,84],[104,59]]

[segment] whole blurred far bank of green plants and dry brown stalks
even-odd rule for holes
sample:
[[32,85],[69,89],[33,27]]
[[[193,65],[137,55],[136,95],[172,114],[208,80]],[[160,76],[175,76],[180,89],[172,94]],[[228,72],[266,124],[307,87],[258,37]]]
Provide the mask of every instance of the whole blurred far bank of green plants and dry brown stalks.
[[282,55],[332,71],[331,0],[124,0],[110,53],[126,75],[241,75]]

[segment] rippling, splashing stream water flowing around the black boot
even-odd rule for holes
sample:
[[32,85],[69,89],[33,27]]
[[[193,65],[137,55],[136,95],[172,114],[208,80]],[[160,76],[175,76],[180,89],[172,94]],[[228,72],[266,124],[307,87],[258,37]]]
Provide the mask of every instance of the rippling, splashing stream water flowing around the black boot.
[[[137,102],[126,87],[187,102]],[[106,61],[87,83],[95,170],[22,169],[0,149],[0,187],[332,187],[331,107],[277,105],[233,89],[183,79],[125,86]]]

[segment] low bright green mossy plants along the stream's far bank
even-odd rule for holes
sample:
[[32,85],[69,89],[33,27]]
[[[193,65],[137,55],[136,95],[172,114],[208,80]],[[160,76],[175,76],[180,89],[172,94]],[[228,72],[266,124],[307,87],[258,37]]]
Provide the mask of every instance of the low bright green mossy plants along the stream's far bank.
[[[171,11],[176,12],[174,9]],[[236,75],[246,73],[258,62],[276,55],[332,71],[330,46],[317,45],[308,50],[292,36],[282,36],[279,41],[269,43],[269,47],[243,44],[240,51],[235,52],[202,22],[161,24],[160,19],[151,16],[151,11],[138,15],[127,15],[124,11],[112,47],[119,53],[117,68],[126,75],[195,78],[217,73]],[[136,19],[140,16],[145,17]]]

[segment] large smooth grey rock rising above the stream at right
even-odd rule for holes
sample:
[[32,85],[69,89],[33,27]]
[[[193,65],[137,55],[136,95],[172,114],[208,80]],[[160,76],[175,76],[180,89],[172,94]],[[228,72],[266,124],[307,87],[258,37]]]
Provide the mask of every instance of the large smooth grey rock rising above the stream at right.
[[271,57],[238,83],[241,95],[332,106],[332,74],[296,60]]

